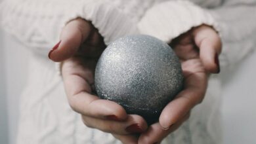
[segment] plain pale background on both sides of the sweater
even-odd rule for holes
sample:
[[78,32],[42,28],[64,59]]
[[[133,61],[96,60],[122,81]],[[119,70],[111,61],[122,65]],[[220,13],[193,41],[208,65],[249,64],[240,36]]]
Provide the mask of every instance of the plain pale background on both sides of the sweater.
[[[1,27],[0,27],[1,30]],[[0,31],[0,143],[14,144],[30,52]],[[256,52],[221,73],[224,144],[256,143]],[[232,75],[230,75],[232,71]]]

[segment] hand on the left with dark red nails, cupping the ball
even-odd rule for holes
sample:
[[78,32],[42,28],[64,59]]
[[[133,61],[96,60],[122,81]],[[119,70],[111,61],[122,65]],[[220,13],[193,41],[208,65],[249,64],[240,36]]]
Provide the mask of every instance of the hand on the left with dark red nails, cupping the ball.
[[69,22],[60,36],[61,43],[49,58],[62,62],[62,77],[70,106],[81,114],[84,124],[112,134],[144,132],[146,121],[139,115],[127,115],[114,101],[95,95],[94,73],[104,42],[98,31],[85,20]]

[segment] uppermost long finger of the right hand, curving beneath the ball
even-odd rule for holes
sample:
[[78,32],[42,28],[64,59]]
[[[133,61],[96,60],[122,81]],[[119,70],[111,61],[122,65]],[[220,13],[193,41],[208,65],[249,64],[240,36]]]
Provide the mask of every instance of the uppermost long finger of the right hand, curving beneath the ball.
[[207,88],[207,76],[203,72],[195,71],[196,68],[188,67],[187,65],[190,65],[190,63],[196,63],[196,60],[182,63],[186,79],[184,90],[165,106],[160,115],[160,124],[163,128],[169,128],[169,126],[179,121],[204,97]]

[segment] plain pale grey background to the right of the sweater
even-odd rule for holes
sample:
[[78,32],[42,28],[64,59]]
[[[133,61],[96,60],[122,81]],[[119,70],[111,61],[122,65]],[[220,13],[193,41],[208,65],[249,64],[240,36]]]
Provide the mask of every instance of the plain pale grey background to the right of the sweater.
[[222,73],[225,144],[256,143],[255,62],[256,52],[253,52],[244,61],[237,63],[237,67]]

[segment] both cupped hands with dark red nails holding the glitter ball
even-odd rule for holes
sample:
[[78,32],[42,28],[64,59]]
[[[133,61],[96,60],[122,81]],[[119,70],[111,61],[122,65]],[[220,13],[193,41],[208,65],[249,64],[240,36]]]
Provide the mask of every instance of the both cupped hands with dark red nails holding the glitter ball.
[[86,126],[111,133],[123,143],[160,143],[203,100],[207,74],[220,70],[221,39],[213,28],[194,27],[174,39],[170,45],[182,63],[184,90],[163,109],[159,122],[147,126],[139,115],[127,115],[121,105],[95,95],[95,66],[106,48],[95,27],[79,18],[72,20],[62,29],[60,39],[49,58],[62,62],[70,106],[81,114]]

